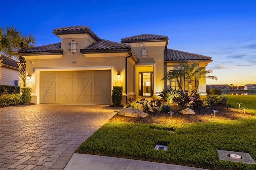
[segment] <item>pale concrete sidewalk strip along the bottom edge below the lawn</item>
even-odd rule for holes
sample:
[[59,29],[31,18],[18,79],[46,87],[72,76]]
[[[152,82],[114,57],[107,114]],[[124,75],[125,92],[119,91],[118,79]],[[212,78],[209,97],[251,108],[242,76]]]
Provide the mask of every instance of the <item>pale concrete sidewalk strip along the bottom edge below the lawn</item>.
[[74,153],[64,170],[205,170],[188,166]]

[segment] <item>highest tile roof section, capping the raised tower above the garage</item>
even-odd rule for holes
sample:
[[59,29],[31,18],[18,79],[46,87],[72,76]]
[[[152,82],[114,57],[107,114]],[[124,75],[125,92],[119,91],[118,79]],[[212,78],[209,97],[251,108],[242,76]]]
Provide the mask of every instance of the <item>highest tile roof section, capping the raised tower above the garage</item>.
[[100,38],[90,29],[88,26],[68,26],[68,27],[60,27],[54,28],[53,34],[60,35],[60,34],[89,34],[95,40],[100,40]]

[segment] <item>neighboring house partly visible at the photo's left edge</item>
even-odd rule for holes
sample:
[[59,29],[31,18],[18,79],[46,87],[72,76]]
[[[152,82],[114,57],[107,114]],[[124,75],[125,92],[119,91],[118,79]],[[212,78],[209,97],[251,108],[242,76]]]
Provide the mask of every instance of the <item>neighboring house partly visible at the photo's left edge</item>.
[[1,55],[0,59],[4,60],[1,66],[2,77],[0,79],[0,85],[19,85],[19,68],[17,61],[10,59],[5,55]]

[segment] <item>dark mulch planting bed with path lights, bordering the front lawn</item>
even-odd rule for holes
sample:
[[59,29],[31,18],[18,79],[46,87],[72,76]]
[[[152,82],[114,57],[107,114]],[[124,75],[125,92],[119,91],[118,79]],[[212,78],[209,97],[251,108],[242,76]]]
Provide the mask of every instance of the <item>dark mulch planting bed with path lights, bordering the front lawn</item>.
[[[194,122],[209,122],[216,120],[236,120],[236,119],[244,119],[251,118],[255,115],[252,113],[246,112],[244,114],[243,109],[237,109],[232,106],[225,105],[214,105],[208,107],[200,107],[199,109],[193,109],[195,114],[193,115],[183,115],[180,113],[182,109],[177,105],[172,105],[171,109],[174,114],[172,114],[172,119],[170,119],[169,113],[164,112],[149,112],[148,117],[145,118],[134,118],[134,117],[126,117],[117,114],[117,117],[112,117],[110,122],[130,122],[130,123],[157,123],[157,124],[167,124],[167,123],[194,123]],[[214,118],[214,112],[212,110],[217,110],[216,116]]]

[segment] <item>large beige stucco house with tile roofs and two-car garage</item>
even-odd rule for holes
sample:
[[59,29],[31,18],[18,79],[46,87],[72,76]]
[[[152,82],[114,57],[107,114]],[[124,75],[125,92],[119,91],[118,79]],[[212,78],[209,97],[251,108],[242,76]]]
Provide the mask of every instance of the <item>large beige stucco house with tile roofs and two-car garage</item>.
[[[123,87],[122,104],[129,97],[157,99],[164,88],[175,87],[175,81],[162,80],[168,71],[180,63],[212,62],[211,57],[168,49],[168,36],[142,34],[118,43],[100,39],[88,26],[52,33],[60,43],[18,51],[32,75],[26,87],[32,88],[33,103],[110,105],[113,86]],[[182,83],[187,89],[187,81]],[[205,79],[197,92],[206,95]]]

